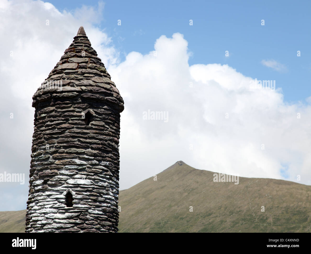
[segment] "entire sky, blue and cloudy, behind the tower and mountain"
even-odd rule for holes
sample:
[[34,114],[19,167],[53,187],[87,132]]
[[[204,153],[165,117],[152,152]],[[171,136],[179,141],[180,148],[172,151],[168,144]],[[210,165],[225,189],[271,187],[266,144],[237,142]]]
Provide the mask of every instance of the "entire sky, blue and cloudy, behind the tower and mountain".
[[124,99],[120,189],[179,160],[310,185],[310,5],[0,0],[0,174],[26,176],[0,211],[26,209],[31,97],[81,25]]

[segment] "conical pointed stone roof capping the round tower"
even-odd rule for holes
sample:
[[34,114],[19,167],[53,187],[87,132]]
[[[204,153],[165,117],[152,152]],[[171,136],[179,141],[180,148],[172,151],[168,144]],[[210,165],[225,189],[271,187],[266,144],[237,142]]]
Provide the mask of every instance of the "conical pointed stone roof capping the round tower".
[[111,81],[111,76],[101,59],[97,57],[96,51],[91,47],[83,26],[73,39],[48,78],[32,97],[32,106],[37,107],[41,102],[56,103],[60,99],[91,100],[110,105],[122,112],[123,98]]

